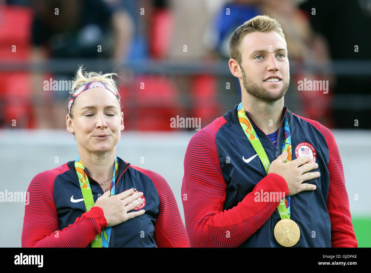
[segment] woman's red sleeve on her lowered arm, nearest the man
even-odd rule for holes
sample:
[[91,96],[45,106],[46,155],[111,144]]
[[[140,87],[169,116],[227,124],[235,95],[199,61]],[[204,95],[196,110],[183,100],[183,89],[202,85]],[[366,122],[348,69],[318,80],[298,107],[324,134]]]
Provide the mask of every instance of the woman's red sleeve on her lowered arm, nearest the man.
[[[180,217],[177,201],[166,180],[156,172],[132,166],[154,183],[160,198],[154,239],[157,247],[190,247],[188,235]],[[144,207],[145,209],[145,207]]]

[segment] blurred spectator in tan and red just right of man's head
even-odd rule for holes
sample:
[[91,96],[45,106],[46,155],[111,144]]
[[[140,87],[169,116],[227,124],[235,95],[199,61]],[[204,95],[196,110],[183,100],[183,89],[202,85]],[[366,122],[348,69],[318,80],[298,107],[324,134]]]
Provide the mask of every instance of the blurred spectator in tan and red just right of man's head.
[[[275,18],[282,26],[287,42],[290,61],[295,61],[298,70],[292,71],[291,93],[287,97],[298,96],[298,103],[292,103],[292,111],[313,119],[326,127],[335,126],[332,113],[334,77],[328,69],[330,55],[327,41],[314,32],[306,14],[298,8],[301,0],[263,1],[263,14]],[[305,69],[306,65],[321,66],[321,70]],[[328,81],[328,92],[323,90],[299,91],[298,81]],[[322,88],[323,89],[323,88]],[[295,107],[297,107],[295,109]]]

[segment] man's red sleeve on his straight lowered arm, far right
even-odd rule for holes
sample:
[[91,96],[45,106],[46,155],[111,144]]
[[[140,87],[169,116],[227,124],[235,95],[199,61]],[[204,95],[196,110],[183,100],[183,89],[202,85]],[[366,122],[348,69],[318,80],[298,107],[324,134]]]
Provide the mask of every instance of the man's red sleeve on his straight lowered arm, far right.
[[330,184],[326,205],[331,220],[332,247],[358,247],[349,210],[349,199],[347,189],[345,188],[343,165],[334,135],[318,121],[303,117],[300,118],[308,121],[321,132],[326,139],[329,149],[327,168],[330,173]]

